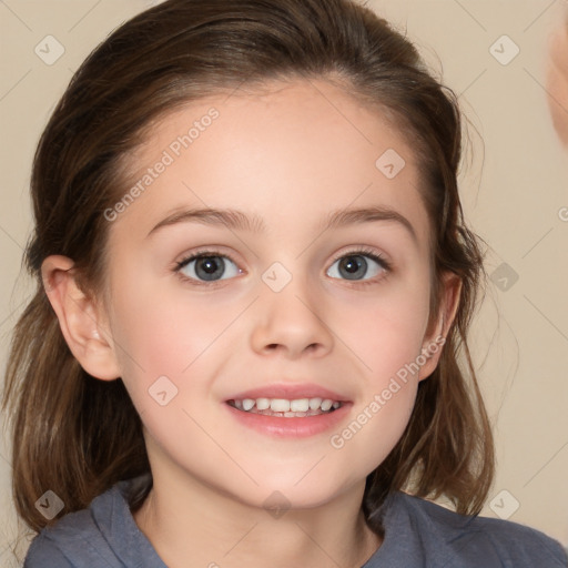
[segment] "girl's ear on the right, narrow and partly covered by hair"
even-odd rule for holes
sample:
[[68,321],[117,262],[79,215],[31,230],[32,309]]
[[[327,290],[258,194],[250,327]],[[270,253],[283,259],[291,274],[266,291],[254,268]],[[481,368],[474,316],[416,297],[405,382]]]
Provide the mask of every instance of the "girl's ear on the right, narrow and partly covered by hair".
[[422,357],[424,365],[420,365],[418,381],[424,381],[436,369],[449,328],[454,323],[462,294],[462,278],[452,272],[443,276],[443,292],[434,332],[424,337]]

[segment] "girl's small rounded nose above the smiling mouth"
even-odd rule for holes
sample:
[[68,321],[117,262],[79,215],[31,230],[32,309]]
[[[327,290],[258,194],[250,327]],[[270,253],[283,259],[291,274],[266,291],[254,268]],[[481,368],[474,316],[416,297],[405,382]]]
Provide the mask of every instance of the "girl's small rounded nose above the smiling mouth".
[[305,354],[322,357],[333,348],[334,336],[325,321],[324,301],[314,300],[307,283],[292,281],[280,292],[266,288],[256,302],[253,349],[296,359]]

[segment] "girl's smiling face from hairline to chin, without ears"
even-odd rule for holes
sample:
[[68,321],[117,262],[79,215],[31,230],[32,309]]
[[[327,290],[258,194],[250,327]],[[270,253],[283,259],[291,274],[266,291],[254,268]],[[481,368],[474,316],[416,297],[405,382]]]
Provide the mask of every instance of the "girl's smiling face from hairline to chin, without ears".
[[[132,166],[106,212],[108,325],[154,476],[255,506],[363,484],[435,342],[403,135],[323,81],[275,83],[169,115]],[[233,214],[189,213],[206,207]]]

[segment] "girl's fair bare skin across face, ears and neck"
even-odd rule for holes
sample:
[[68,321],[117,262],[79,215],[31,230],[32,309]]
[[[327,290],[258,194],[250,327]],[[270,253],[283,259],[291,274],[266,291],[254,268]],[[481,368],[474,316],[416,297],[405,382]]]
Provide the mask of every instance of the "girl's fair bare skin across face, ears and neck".
[[[412,149],[378,111],[323,80],[192,102],[152,130],[132,179],[212,106],[219,119],[110,223],[105,295],[81,292],[63,256],[44,261],[45,288],[83,368],[121,376],[141,414],[154,487],[134,519],[168,566],[362,566],[381,546],[361,511],[365,477],[402,436],[442,349],[341,449],[329,436],[447,333],[459,283],[445,280],[427,334],[430,226]],[[375,166],[387,149],[406,161],[394,179]],[[179,223],[148,236],[173,210],[204,204],[255,213],[267,230]],[[334,210],[369,205],[404,215],[416,241],[395,221],[317,229]],[[175,262],[213,245],[235,261],[225,280],[175,274]],[[368,272],[348,280],[334,261],[357,245],[392,272],[367,258]],[[292,276],[277,293],[262,280],[274,262]],[[178,387],[165,406],[148,393],[163,375]],[[332,432],[302,439],[250,430],[226,412],[231,395],[276,382],[316,383],[353,407]],[[263,506],[275,490],[290,504],[278,518]]]

